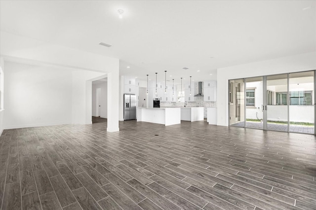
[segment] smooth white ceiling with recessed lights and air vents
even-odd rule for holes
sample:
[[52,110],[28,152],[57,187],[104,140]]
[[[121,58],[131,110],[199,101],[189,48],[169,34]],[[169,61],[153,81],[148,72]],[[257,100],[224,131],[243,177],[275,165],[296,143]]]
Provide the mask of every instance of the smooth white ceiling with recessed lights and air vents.
[[120,75],[202,81],[217,68],[316,51],[316,1],[1,0],[0,30],[118,58]]

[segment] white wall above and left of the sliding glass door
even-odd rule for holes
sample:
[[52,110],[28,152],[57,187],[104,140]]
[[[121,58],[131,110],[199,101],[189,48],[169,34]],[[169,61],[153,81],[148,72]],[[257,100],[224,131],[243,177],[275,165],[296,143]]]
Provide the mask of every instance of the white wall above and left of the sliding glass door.
[[316,69],[316,52],[217,70],[217,125],[228,126],[228,80]]

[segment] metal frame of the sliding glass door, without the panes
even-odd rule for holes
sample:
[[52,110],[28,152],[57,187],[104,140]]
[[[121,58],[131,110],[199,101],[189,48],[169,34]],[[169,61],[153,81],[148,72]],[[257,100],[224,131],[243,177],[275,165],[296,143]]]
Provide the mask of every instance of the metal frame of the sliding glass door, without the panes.
[[[287,74],[287,92],[286,92],[286,101],[287,101],[287,131],[278,131],[278,132],[286,132],[286,133],[298,133],[298,132],[290,132],[290,74],[291,73],[300,73],[300,72],[308,72],[313,71],[314,72],[314,134],[316,135],[316,70],[305,70],[305,71],[295,71],[295,72],[288,72],[288,73],[279,73],[279,74]],[[267,77],[273,76],[278,74],[271,74],[271,75],[264,75],[264,76],[253,76],[253,77],[262,77],[263,78],[263,129],[260,130],[268,130],[268,110],[267,110]],[[246,126],[246,78],[253,78],[253,77],[244,77],[244,78],[237,78],[238,80],[243,80],[244,83],[244,126],[239,128],[250,128]],[[230,125],[230,81],[231,80],[237,80],[237,79],[229,79],[228,80],[228,124]],[[258,128],[252,128],[252,129],[258,129]],[[268,130],[268,131],[277,131],[277,130]],[[299,133],[299,134],[306,134],[306,133]]]

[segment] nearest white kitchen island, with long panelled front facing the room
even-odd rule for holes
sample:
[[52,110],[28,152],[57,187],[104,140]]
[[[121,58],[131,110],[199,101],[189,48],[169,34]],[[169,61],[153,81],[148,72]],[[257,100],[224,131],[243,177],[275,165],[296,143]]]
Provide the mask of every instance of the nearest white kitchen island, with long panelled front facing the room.
[[175,125],[181,123],[181,109],[180,108],[150,108],[137,107],[137,122],[151,122],[163,124],[165,126]]

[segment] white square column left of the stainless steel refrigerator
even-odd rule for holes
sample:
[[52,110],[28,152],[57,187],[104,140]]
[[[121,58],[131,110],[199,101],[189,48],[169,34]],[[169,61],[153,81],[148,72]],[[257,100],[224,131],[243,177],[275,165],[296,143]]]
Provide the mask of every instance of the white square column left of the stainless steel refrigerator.
[[118,71],[108,73],[108,132],[119,131],[119,75]]

